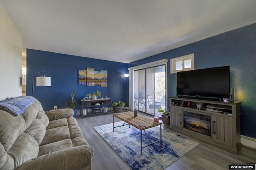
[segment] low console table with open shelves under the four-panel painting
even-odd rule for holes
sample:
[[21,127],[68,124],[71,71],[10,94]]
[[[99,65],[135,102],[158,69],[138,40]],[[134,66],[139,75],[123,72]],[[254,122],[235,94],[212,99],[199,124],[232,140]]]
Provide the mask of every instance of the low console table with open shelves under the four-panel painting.
[[[96,99],[96,100],[84,100],[81,99],[80,100],[80,115],[82,115],[82,119],[84,119],[84,115],[83,115],[83,109],[85,108],[97,108],[97,107],[102,107],[102,106],[107,106],[107,107],[111,107],[111,99]],[[103,112],[102,113],[107,113],[107,112]],[[111,113],[111,109],[110,109],[110,113]],[[97,113],[95,113],[97,114]],[[99,113],[98,113],[99,114]],[[87,115],[93,115],[93,113],[88,113]]]

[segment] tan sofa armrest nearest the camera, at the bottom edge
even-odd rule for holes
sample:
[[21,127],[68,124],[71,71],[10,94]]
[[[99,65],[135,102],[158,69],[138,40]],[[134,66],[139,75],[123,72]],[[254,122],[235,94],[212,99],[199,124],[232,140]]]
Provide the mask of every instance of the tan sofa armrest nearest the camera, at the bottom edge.
[[93,153],[94,150],[89,145],[76,146],[28,160],[17,170],[74,170],[86,164],[89,166],[86,169],[91,169],[89,162],[92,161]]

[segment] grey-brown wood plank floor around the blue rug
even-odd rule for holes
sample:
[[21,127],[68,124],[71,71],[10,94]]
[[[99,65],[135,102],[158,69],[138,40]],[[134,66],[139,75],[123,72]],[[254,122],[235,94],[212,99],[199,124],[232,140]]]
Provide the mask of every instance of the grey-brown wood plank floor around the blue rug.
[[[76,119],[82,128],[84,138],[94,148],[92,170],[130,170],[130,167],[93,129],[99,125],[113,123],[112,114],[94,115],[84,119],[76,116]],[[120,121],[117,118],[114,120]],[[199,143],[196,148],[176,160],[166,170],[227,170],[228,163],[256,163],[256,150],[252,148],[242,146],[240,152],[235,155],[208,144]]]

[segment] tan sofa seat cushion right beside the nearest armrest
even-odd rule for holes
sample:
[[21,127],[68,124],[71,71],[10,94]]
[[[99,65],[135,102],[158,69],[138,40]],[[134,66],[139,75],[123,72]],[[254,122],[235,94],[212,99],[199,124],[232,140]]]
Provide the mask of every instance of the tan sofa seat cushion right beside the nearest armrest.
[[72,147],[73,147],[73,144],[72,144],[72,140],[70,140],[70,139],[64,139],[64,140],[60,140],[57,142],[52,142],[52,143],[46,144],[44,146],[40,146],[38,156],[50,154],[50,153],[56,152],[58,150],[64,150],[64,149],[72,148]]

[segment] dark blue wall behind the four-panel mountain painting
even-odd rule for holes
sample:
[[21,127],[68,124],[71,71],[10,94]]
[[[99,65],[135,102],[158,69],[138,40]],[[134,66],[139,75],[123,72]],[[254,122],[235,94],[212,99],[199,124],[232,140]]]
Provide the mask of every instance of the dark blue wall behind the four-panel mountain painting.
[[[78,85],[78,70],[86,70],[87,67],[92,67],[95,71],[108,70],[108,87]],[[34,97],[42,103],[44,111],[53,110],[54,106],[58,109],[66,108],[65,102],[69,103],[73,90],[78,109],[80,99],[97,90],[102,93],[102,97],[106,93],[112,102],[125,101],[124,74],[128,74],[127,68],[126,63],[27,49],[27,95],[32,95],[33,73],[46,71],[45,76],[51,77],[50,87],[36,87],[36,77],[34,80]]]

